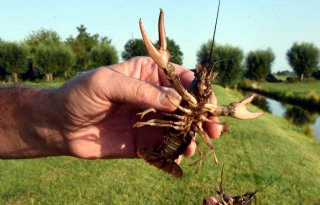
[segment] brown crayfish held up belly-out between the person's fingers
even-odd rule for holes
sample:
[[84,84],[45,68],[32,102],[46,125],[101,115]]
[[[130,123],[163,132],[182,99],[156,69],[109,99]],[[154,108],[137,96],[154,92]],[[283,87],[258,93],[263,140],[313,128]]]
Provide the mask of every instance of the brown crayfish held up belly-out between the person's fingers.
[[[251,113],[246,109],[246,104],[252,101],[254,95],[245,98],[240,102],[231,103],[230,105],[216,105],[210,103],[209,100],[212,96],[211,84],[214,78],[217,76],[217,73],[214,71],[215,63],[213,62],[213,43],[210,54],[210,62],[205,66],[198,65],[196,67],[194,80],[191,82],[189,88],[185,89],[179,77],[175,74],[174,65],[169,62],[170,52],[167,50],[167,39],[164,30],[163,15],[163,11],[160,10],[158,23],[160,41],[159,50],[155,48],[153,43],[148,38],[141,19],[139,21],[140,31],[150,57],[155,61],[159,68],[164,71],[171,86],[182,97],[182,101],[180,104],[177,104],[170,98],[169,95],[167,95],[167,99],[177,107],[176,111],[173,113],[162,113],[165,116],[164,119],[151,119],[146,122],[137,122],[134,127],[149,125],[167,128],[166,135],[164,136],[164,140],[160,146],[156,148],[139,149],[137,151],[137,155],[138,157],[143,158],[149,164],[167,173],[170,173],[177,178],[180,178],[183,175],[183,171],[175,162],[175,160],[185,151],[191,141],[195,139],[196,135],[200,136],[209,147],[209,150],[204,155],[201,151],[199,151],[198,148],[200,159],[195,162],[195,164],[197,164],[197,170],[199,169],[203,158],[208,156],[210,153],[214,154],[215,161],[217,162],[217,157],[214,153],[214,145],[210,141],[207,133],[202,128],[202,124],[204,122],[219,123],[209,120],[209,115],[231,116],[238,119],[251,119],[258,117],[263,113]],[[216,22],[217,19],[218,12]],[[150,108],[144,112],[138,113],[138,115],[141,115],[142,118],[149,112],[156,112],[156,110]],[[226,125],[226,123],[219,124]]]

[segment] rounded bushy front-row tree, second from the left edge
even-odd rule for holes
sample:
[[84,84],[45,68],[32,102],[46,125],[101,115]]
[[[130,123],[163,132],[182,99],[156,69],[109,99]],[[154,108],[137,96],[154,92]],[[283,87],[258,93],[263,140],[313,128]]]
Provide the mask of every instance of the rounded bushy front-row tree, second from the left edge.
[[52,81],[53,73],[65,73],[74,64],[74,55],[69,47],[64,44],[40,44],[35,51],[36,66],[46,73],[47,81]]

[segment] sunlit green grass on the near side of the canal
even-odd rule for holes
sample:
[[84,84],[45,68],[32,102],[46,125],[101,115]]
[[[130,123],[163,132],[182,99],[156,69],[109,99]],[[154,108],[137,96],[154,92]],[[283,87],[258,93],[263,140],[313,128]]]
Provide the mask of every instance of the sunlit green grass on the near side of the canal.
[[[214,90],[219,104],[241,98],[218,86]],[[257,193],[257,204],[320,203],[319,143],[270,114],[221,120],[230,122],[230,133],[214,141],[220,164],[209,157],[199,174],[188,166],[197,156],[182,162],[181,180],[138,159],[1,160],[0,204],[201,204],[213,194],[222,164],[227,193],[254,191],[277,178]]]

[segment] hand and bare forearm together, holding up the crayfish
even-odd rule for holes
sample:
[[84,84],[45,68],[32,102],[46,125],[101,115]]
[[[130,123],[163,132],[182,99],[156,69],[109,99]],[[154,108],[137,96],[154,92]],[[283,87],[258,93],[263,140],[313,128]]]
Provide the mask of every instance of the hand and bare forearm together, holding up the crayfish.
[[[177,73],[190,84],[191,71],[177,66]],[[166,94],[181,100],[165,85],[165,75],[151,58],[136,57],[79,75],[57,89],[1,87],[0,107],[11,112],[1,110],[5,120],[0,120],[0,158],[135,158],[138,149],[159,145],[165,132],[133,128],[140,119],[136,113],[149,107],[172,112],[176,106]],[[220,133],[216,125],[207,131],[212,136]],[[23,143],[25,138],[29,143]],[[191,144],[185,154],[194,150]]]

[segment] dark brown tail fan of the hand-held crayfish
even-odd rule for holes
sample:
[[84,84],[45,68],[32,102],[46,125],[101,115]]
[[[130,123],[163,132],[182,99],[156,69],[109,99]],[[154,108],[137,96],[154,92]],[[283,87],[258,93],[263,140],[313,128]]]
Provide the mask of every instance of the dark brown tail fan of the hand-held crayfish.
[[162,157],[160,152],[157,152],[152,148],[139,149],[137,155],[150,165],[155,166],[168,174],[172,174],[174,177],[181,178],[183,176],[182,169],[175,161]]

